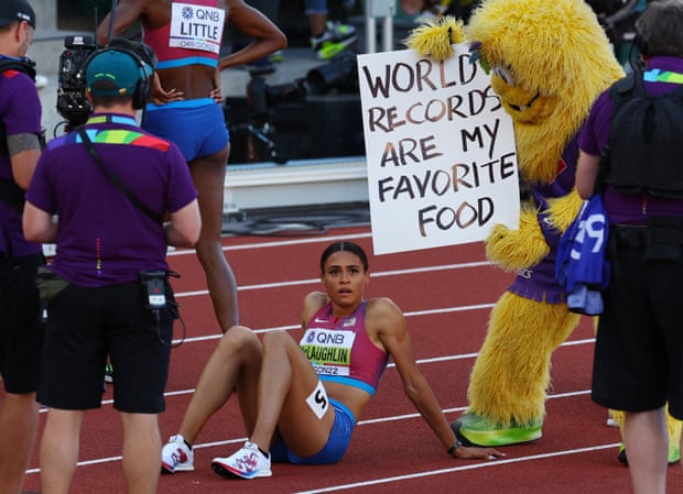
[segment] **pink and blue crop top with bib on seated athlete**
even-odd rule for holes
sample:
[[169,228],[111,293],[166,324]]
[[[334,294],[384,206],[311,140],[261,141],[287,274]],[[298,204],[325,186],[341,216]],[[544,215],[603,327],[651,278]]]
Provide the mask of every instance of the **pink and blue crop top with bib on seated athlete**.
[[306,325],[299,345],[321,381],[347,384],[375,395],[389,354],[368,338],[366,305],[364,301],[353,315],[337,318],[332,316],[332,303],[325,304]]

